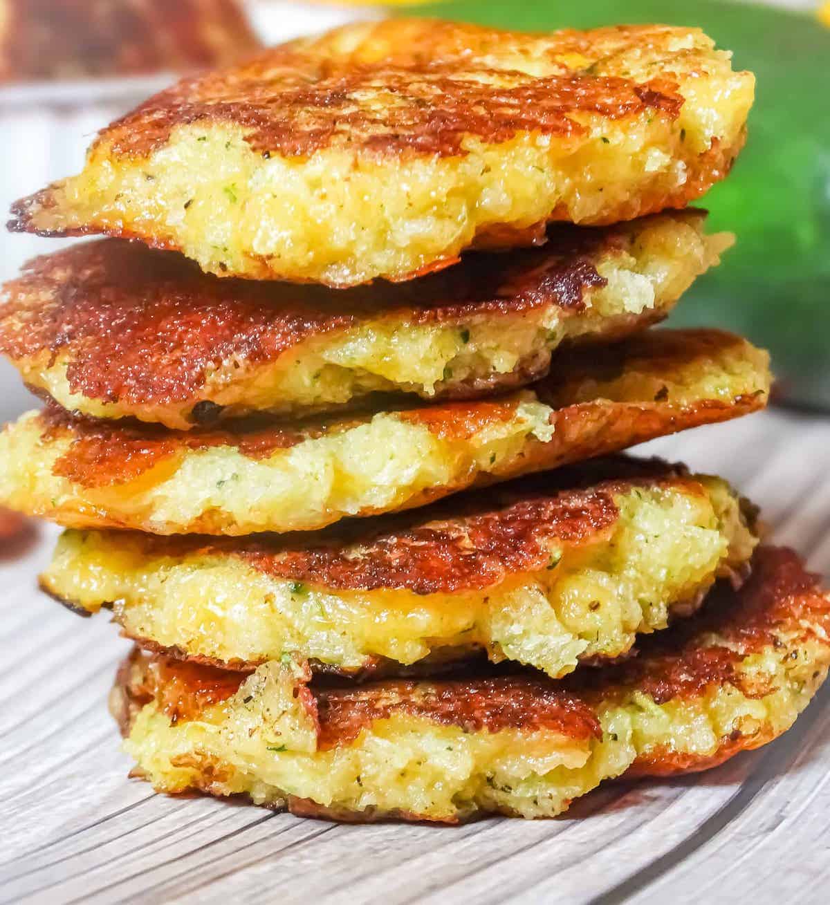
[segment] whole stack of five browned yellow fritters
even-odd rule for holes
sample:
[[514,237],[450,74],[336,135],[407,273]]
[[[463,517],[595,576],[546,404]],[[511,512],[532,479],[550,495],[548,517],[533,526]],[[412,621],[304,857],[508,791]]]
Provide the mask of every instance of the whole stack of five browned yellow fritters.
[[0,500],[136,640],[138,775],[536,817],[791,725],[827,596],[725,481],[615,455],[766,405],[745,340],[646,329],[730,244],[684,205],[752,94],[694,30],[355,25],[178,84],[17,205],[117,237],[6,287],[47,405]]

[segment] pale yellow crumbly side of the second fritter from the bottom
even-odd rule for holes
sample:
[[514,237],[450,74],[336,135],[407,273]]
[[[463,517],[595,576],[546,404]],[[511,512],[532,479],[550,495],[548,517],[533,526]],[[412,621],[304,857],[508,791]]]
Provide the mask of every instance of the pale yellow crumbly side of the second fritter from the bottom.
[[165,557],[140,535],[72,530],[42,583],[91,612],[112,604],[132,637],[224,663],[296,653],[356,671],[481,647],[558,677],[625,653],[745,567],[757,541],[738,498],[719,479],[695,480],[618,493],[609,533],[562,542],[543,570],[481,591],[336,590],[267,575],[231,551]]

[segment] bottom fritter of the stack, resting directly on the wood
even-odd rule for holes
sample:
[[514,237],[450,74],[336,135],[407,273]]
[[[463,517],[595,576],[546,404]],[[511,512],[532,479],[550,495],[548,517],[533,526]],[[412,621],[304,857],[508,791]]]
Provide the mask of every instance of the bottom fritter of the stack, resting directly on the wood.
[[249,795],[340,820],[548,817],[603,779],[714,766],[785,732],[825,681],[830,597],[761,548],[739,592],[623,667],[320,688],[287,659],[244,676],[134,653],[110,698],[159,791]]

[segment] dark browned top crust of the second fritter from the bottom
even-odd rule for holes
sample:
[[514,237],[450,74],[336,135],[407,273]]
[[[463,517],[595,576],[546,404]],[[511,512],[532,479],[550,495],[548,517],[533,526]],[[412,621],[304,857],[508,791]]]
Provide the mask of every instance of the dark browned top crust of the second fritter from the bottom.
[[133,534],[148,557],[237,557],[264,574],[335,590],[454,594],[548,567],[551,550],[606,538],[615,496],[635,487],[702,494],[679,466],[617,457],[471,493],[425,510],[343,520],[315,534],[251,538]]

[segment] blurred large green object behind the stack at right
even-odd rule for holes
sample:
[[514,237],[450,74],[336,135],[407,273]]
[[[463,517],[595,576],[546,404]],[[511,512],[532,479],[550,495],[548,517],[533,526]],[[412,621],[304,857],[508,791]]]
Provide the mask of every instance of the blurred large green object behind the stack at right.
[[758,76],[749,143],[701,205],[738,244],[675,324],[719,325],[772,350],[778,401],[830,410],[830,28],[815,14],[724,0],[449,0],[405,14],[544,30],[699,25]]

